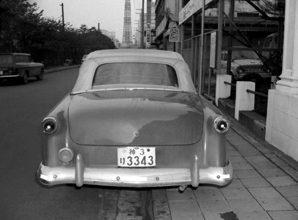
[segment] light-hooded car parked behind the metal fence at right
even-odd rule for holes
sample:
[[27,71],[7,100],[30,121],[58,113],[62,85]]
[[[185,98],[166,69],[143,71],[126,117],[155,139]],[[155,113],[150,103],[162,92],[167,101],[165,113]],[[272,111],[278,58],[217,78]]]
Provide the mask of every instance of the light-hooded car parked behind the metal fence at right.
[[227,72],[227,51],[222,51],[222,74],[230,74],[232,82],[236,81],[253,81],[255,83],[263,83],[271,81],[272,73],[264,65],[258,55],[254,51],[243,50],[232,51],[231,53],[231,69]]

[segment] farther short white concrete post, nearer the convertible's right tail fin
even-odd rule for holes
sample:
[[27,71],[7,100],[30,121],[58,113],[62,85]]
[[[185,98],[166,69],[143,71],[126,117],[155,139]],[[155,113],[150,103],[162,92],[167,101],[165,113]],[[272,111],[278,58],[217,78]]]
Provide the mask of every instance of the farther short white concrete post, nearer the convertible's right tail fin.
[[231,95],[231,86],[224,84],[224,81],[231,83],[231,75],[217,74],[215,91],[215,103],[217,106],[219,106],[219,98],[227,98]]

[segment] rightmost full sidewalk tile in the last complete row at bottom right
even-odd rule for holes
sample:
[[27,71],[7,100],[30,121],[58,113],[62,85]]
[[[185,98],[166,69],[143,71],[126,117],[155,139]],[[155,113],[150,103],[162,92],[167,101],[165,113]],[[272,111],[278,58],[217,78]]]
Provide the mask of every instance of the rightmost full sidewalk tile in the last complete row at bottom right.
[[294,210],[294,207],[283,197],[279,198],[256,198],[266,211]]

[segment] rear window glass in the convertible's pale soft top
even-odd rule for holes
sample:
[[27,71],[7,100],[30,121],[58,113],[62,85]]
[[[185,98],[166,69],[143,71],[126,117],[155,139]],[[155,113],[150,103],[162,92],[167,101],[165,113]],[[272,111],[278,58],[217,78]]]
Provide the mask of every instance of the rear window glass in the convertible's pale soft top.
[[[162,86],[178,88],[173,67],[155,63],[111,63],[99,66],[94,74],[92,88],[102,85]],[[113,86],[109,86],[113,87]],[[119,86],[118,86],[119,87]]]

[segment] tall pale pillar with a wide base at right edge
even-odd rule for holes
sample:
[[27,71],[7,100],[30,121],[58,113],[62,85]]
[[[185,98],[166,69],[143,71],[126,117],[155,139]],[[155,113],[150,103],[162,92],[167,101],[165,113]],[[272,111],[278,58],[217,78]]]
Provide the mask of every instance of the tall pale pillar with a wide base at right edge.
[[283,72],[268,92],[266,136],[298,161],[298,1],[286,0]]

